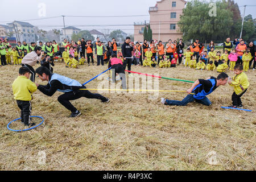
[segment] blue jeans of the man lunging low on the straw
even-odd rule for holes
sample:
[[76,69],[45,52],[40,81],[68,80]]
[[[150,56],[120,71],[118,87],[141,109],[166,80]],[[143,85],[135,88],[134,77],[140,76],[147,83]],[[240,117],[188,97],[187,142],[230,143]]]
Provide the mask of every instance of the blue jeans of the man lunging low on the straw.
[[203,104],[203,105],[207,105],[207,106],[210,106],[212,105],[212,102],[210,102],[210,100],[205,97],[203,98],[202,100],[197,100],[193,97],[192,94],[188,94],[187,97],[183,98],[182,101],[171,101],[171,100],[166,100],[166,105],[176,105],[176,106],[185,106],[187,105],[189,102],[193,102],[193,101],[196,101],[200,104]]

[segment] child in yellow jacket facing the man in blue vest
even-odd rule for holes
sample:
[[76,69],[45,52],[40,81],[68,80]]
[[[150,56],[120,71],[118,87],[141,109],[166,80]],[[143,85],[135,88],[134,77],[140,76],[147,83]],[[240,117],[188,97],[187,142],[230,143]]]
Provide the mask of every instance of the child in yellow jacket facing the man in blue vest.
[[234,67],[234,73],[236,74],[228,82],[230,86],[234,87],[234,93],[232,94],[232,106],[229,107],[243,107],[241,97],[246,92],[250,83],[248,81],[247,75],[243,73],[243,66],[237,64]]

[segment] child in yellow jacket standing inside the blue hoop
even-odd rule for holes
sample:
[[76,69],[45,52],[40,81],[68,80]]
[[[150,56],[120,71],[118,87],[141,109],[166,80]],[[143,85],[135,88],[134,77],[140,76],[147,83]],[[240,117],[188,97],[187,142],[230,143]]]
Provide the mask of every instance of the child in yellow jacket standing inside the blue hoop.
[[30,69],[27,67],[19,68],[19,76],[13,82],[14,99],[17,102],[20,111],[21,122],[25,126],[34,126],[35,123],[30,123],[31,100],[32,94],[38,87],[30,79]]

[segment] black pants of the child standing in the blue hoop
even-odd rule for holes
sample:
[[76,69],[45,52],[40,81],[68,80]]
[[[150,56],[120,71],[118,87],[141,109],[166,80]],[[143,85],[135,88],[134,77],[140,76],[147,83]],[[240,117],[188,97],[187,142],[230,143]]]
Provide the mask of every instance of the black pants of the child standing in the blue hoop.
[[17,105],[20,109],[20,118],[24,125],[28,125],[30,122],[30,114],[31,114],[31,102],[30,101],[19,101],[16,100]]

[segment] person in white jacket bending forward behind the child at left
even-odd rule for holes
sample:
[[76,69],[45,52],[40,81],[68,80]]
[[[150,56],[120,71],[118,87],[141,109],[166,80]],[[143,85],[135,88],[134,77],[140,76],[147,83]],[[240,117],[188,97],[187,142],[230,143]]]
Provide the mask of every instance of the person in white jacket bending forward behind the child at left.
[[43,55],[44,55],[44,51],[42,51],[42,48],[39,46],[36,46],[34,51],[28,53],[22,59],[22,67],[27,67],[28,69],[30,69],[30,73],[31,73],[30,80],[32,82],[35,82],[35,69],[33,67],[34,65],[36,65],[37,62],[40,63]]

